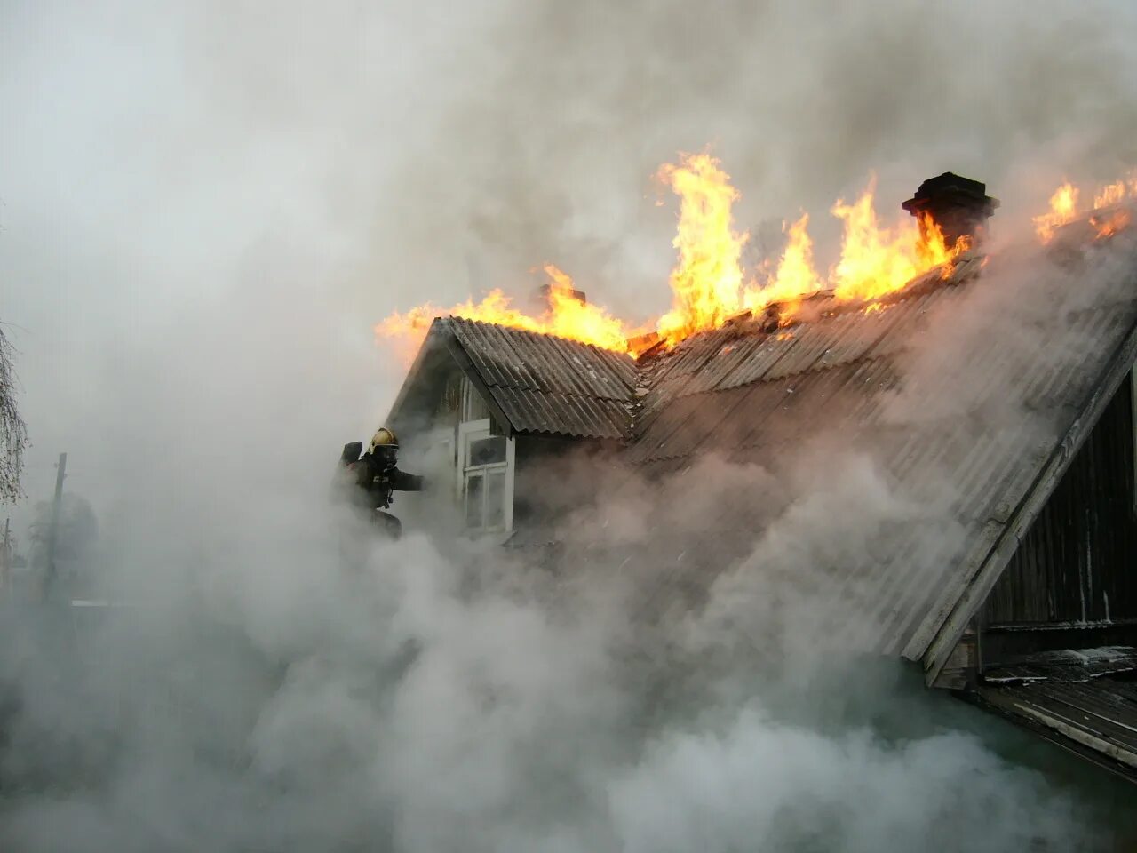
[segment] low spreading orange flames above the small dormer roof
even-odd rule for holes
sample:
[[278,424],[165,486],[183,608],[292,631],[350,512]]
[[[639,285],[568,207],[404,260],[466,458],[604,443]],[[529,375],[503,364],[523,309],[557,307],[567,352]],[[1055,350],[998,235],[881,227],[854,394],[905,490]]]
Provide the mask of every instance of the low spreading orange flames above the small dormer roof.
[[434,317],[445,316],[571,338],[619,353],[630,351],[628,339],[641,333],[642,329],[630,329],[601,306],[576,299],[572,278],[558,267],[545,264],[542,268],[549,276],[548,307],[539,316],[533,317],[515,308],[509,297],[501,290],[495,289],[480,303],[467,299],[448,310],[426,303],[406,314],[391,314],[375,326],[375,334],[397,340],[407,362],[413,361],[418,351]]

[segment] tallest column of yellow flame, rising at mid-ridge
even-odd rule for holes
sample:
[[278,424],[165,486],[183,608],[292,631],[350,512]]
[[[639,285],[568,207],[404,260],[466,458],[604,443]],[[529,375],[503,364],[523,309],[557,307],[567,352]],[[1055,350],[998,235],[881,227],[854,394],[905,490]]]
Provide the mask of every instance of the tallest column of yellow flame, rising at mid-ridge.
[[673,346],[716,329],[742,309],[740,259],[749,234],[733,229],[731,206],[739,193],[709,154],[684,155],[679,165],[664,165],[657,176],[680,198],[679,229],[672,241],[679,249],[671,273],[672,309],[658,323],[659,334]]

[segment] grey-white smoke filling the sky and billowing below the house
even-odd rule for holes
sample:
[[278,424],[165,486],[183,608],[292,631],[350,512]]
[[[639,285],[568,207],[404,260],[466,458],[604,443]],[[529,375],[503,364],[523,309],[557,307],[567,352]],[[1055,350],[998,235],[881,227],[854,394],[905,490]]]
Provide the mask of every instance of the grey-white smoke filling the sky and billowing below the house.
[[[450,569],[478,555],[418,539],[360,587],[327,568],[313,496],[401,380],[372,336],[391,310],[524,296],[543,262],[632,320],[665,309],[674,208],[652,175],[678,151],[713,147],[742,227],[808,210],[822,264],[829,206],[871,172],[889,216],[943,171],[984,180],[1010,230],[1063,175],[1137,164],[1134,44],[1122,0],[0,0],[0,321],[25,489],[48,495],[67,450],[107,560],[192,601],[108,649],[227,685],[190,722],[133,731],[96,793],[9,808],[13,848],[914,850],[977,812],[960,848],[1086,838],[1077,801],[891,671],[841,706],[895,689],[927,721],[899,745],[874,710],[840,728],[818,701],[795,722],[799,682],[735,680],[621,754],[642,697],[606,646],[619,615],[561,624],[513,588],[471,604]],[[199,620],[251,660],[200,643]],[[376,684],[404,644],[430,653]],[[18,756],[73,761],[110,718],[38,661],[3,672],[40,711]],[[107,693],[134,696],[115,672]],[[207,735],[252,770],[202,764]],[[49,759],[32,770],[50,778]]]

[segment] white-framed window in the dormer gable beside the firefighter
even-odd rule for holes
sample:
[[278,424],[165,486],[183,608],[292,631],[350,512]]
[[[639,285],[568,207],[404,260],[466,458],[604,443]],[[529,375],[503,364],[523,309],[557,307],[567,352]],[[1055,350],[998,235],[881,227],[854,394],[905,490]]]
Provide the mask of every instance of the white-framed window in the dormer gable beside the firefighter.
[[504,532],[513,528],[513,439],[490,430],[489,419],[458,428],[462,498],[467,529]]

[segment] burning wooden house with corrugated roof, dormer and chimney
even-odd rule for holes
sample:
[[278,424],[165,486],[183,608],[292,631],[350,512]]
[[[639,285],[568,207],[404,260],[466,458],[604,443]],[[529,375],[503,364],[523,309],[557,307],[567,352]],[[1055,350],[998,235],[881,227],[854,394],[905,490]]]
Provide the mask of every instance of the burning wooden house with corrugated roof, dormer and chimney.
[[[1129,213],[1065,215],[1045,250],[988,256],[996,206],[940,175],[904,205],[939,246],[914,278],[854,299],[838,266],[835,287],[744,296],[622,347],[435,318],[388,423],[433,459],[435,499],[503,543],[555,538],[528,472],[565,453],[647,482],[682,483],[709,457],[788,479],[795,448],[839,439],[914,510],[811,566],[831,641],[912,661],[929,687],[1137,780],[1137,254],[1099,239]],[[707,263],[696,255],[677,276]],[[723,523],[753,541],[769,520],[732,506]],[[764,571],[711,547],[719,532],[644,570],[655,618]]]

